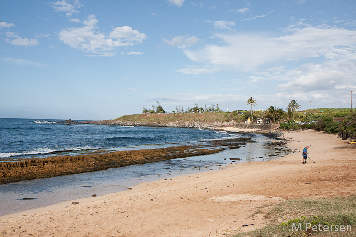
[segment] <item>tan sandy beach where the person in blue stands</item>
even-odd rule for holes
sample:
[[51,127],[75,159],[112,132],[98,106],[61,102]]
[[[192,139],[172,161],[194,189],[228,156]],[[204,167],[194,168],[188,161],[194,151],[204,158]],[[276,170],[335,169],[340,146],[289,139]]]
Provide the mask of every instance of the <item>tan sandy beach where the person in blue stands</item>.
[[[225,236],[268,225],[251,217],[263,205],[356,193],[355,145],[313,130],[283,136],[295,153],[3,216],[0,236]],[[315,163],[302,164],[307,145]]]

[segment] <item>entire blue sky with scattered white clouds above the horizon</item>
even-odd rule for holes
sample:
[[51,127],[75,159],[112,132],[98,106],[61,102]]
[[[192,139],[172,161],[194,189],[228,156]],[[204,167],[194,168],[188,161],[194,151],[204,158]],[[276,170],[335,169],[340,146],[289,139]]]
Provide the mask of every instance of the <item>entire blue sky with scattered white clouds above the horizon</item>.
[[[354,0],[0,0],[0,117],[350,108]],[[354,106],[356,107],[356,92]],[[312,102],[310,102],[312,101]]]

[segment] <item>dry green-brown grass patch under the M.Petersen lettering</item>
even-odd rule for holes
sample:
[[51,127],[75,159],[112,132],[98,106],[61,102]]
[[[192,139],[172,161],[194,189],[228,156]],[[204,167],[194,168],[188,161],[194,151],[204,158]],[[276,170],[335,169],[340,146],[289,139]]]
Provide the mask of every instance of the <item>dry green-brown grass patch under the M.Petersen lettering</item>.
[[[356,196],[286,200],[263,217],[269,226],[235,236],[356,236]],[[306,225],[310,227],[306,229]]]

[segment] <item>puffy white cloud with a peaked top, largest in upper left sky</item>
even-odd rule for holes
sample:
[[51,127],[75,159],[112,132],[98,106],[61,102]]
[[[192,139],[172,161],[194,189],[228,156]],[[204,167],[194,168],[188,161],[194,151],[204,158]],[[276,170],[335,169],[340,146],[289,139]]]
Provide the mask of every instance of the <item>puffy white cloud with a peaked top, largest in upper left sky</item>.
[[83,21],[83,27],[72,27],[59,33],[60,40],[74,49],[95,53],[101,56],[113,56],[115,48],[132,46],[142,43],[147,36],[129,26],[114,28],[109,35],[97,31],[97,22],[94,15]]

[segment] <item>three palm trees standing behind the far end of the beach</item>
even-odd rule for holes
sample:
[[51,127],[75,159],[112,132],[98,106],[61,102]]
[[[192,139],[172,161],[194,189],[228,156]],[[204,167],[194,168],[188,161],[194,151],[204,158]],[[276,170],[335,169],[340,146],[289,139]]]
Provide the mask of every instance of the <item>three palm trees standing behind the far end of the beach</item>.
[[[251,105],[251,118],[253,118],[252,115],[252,105],[257,105],[257,102],[254,98],[249,98],[246,102],[247,105]],[[296,100],[292,100],[287,107],[287,111],[285,112],[282,108],[276,108],[276,106],[270,106],[268,109],[266,109],[266,112],[264,116],[268,119],[271,120],[272,123],[279,123],[281,119],[288,117],[292,117],[292,121],[294,122],[294,111],[296,109],[300,109],[301,105],[298,104]]]

